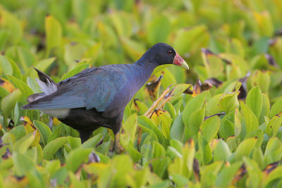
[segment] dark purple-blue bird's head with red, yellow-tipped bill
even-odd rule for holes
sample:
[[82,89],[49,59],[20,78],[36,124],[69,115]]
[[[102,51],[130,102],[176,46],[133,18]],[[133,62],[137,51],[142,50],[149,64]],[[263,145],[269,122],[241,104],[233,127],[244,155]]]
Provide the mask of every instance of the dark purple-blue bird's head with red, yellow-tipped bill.
[[165,43],[154,44],[148,51],[154,63],[158,65],[174,64],[189,70],[188,64],[181,58],[173,47]]

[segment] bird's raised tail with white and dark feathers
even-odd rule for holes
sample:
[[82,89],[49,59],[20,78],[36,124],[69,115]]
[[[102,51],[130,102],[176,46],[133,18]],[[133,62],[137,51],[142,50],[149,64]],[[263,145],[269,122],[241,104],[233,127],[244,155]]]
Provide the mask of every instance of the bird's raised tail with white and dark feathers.
[[37,101],[38,99],[41,99],[44,96],[52,94],[52,93],[56,92],[56,90],[57,90],[57,84],[56,84],[56,82],[54,82],[54,80],[51,79],[51,77],[49,77],[48,75],[46,75],[42,71],[38,70],[37,68],[35,68],[35,70],[37,71],[37,75],[39,77],[39,79],[35,78],[35,80],[37,81],[37,84],[39,85],[42,93],[32,94],[32,95],[28,96],[27,102],[29,104],[23,106],[22,107],[23,109],[32,108],[32,105],[30,103],[32,103],[33,101]]

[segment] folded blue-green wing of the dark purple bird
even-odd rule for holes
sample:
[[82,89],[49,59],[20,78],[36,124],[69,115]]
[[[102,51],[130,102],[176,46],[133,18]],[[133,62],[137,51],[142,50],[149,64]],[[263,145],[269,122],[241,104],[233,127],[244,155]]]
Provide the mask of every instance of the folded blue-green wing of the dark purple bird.
[[58,83],[58,90],[27,104],[29,109],[96,108],[104,111],[114,95],[126,84],[121,68],[101,67],[83,70]]

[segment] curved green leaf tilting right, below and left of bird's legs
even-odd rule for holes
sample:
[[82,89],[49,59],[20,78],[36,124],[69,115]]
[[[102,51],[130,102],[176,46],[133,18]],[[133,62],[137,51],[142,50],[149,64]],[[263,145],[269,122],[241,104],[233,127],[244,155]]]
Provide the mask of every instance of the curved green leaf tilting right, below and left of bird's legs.
[[51,160],[58,149],[68,142],[68,137],[59,137],[49,142],[43,149],[43,158]]

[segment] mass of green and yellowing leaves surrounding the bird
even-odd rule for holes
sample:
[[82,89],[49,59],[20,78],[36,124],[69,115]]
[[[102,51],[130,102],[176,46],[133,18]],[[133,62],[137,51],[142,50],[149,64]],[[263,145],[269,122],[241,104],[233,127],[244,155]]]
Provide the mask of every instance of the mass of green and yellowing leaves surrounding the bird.
[[[280,0],[2,0],[1,187],[282,187],[281,18]],[[80,144],[20,108],[40,92],[34,67],[58,82],[133,63],[157,42],[190,70],[159,68],[128,104],[123,154],[109,152],[106,128]],[[171,84],[164,108],[144,115]]]

